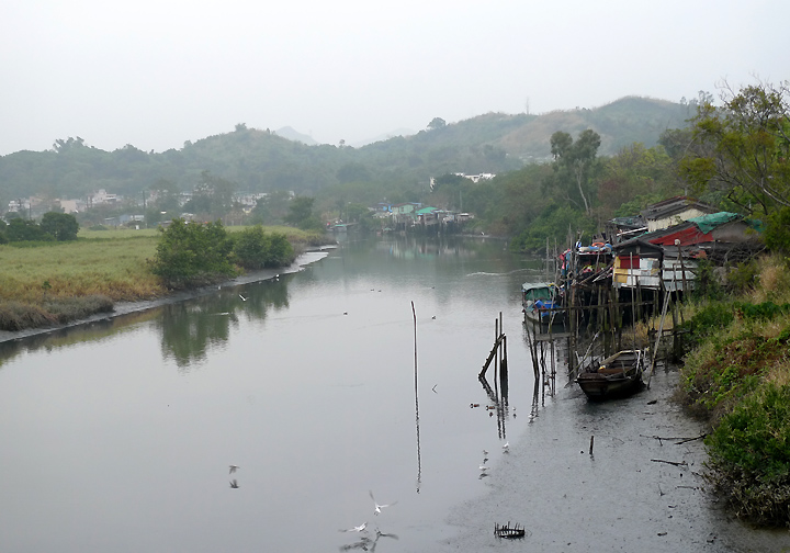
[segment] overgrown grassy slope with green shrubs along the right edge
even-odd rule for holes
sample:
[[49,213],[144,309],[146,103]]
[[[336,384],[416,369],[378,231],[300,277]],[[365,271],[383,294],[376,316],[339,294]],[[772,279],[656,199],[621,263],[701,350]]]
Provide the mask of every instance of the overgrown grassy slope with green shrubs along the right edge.
[[766,258],[744,294],[690,304],[679,397],[710,421],[708,477],[741,518],[790,524],[790,274]]

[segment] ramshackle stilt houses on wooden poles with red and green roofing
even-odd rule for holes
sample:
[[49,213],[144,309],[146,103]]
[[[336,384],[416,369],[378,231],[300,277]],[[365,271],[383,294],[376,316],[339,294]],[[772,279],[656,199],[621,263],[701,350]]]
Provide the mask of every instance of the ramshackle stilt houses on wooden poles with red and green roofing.
[[[678,357],[679,305],[707,284],[710,271],[759,253],[760,230],[758,222],[677,196],[648,205],[639,215],[611,219],[590,238],[569,232],[562,251],[546,242],[545,274],[522,285],[526,334],[543,393],[554,393],[560,364],[566,364],[573,381],[590,357],[640,349],[635,334],[624,335],[637,323],[653,321],[647,331],[647,379],[665,335],[672,347],[664,356]],[[544,312],[551,317],[529,312],[534,303],[529,294],[537,285],[553,290],[550,312]]]

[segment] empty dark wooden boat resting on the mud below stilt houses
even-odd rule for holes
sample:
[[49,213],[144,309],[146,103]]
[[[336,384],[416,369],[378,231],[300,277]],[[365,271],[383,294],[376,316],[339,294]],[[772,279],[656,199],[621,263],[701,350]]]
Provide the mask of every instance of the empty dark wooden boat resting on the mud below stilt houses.
[[644,352],[623,350],[585,366],[576,383],[589,399],[623,397],[642,386]]

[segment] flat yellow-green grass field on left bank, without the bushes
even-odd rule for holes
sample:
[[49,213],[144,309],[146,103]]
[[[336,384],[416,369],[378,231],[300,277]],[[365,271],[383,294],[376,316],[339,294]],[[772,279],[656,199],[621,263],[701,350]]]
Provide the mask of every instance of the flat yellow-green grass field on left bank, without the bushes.
[[[292,227],[266,230],[284,234],[297,252],[327,241]],[[82,229],[76,241],[0,245],[0,329],[65,324],[112,311],[113,302],[166,295],[147,262],[158,239],[155,229]]]

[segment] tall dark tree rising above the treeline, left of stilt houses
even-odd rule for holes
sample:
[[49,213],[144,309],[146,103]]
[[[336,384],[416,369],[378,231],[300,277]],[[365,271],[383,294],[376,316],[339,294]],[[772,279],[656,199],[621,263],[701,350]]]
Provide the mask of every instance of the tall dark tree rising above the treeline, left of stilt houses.
[[574,143],[569,134],[557,131],[551,136],[550,142],[554,157],[554,183],[565,189],[567,199],[572,202],[579,205],[580,200],[585,213],[589,215],[591,210],[589,182],[597,169],[596,155],[600,146],[600,136],[588,128],[583,131]]

